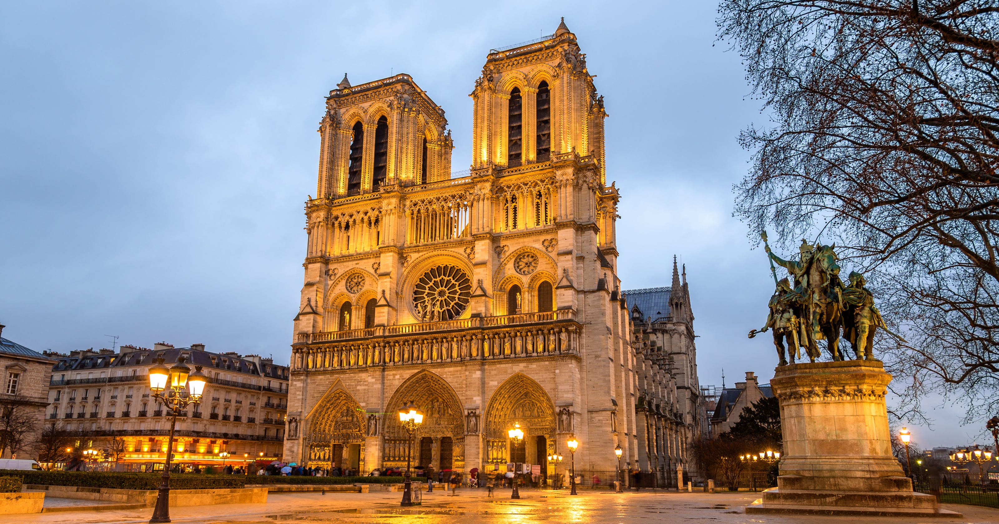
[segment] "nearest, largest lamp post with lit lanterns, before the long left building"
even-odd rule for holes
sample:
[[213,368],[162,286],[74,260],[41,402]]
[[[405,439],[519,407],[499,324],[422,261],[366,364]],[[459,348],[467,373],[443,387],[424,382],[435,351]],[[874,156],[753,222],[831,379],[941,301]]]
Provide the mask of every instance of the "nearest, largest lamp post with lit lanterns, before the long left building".
[[[205,390],[208,377],[201,372],[201,366],[191,368],[184,363],[184,357],[178,357],[172,367],[163,364],[163,357],[149,368],[149,388],[153,398],[159,398],[171,410],[170,437],[167,439],[167,459],[163,465],[163,483],[156,497],[156,509],[150,522],[170,522],[170,459],[174,451],[174,428],[177,427],[177,412],[189,404],[198,405],[201,394]],[[187,391],[185,391],[187,389]]]

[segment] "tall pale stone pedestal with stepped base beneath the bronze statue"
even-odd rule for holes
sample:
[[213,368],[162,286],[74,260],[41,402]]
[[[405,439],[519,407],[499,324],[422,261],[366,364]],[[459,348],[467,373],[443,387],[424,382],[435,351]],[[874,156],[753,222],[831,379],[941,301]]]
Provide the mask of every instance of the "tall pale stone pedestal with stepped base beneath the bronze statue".
[[784,455],[777,488],[746,513],[959,516],[912,491],[891,454],[881,362],[847,360],[778,367]]

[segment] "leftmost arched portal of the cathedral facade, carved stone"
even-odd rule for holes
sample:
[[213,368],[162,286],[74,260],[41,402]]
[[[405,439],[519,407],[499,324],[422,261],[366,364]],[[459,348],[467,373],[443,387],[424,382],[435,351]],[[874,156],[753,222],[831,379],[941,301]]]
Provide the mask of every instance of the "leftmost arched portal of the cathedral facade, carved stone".
[[344,389],[335,389],[320,400],[307,419],[309,432],[305,457],[310,467],[363,469],[364,410]]

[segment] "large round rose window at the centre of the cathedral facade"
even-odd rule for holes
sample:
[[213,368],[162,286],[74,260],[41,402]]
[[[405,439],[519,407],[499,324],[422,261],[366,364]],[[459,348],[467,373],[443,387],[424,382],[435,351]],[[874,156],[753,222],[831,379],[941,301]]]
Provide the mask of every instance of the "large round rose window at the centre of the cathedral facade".
[[469,306],[472,280],[460,267],[438,265],[417,280],[413,287],[413,306],[417,316],[427,322],[458,318]]

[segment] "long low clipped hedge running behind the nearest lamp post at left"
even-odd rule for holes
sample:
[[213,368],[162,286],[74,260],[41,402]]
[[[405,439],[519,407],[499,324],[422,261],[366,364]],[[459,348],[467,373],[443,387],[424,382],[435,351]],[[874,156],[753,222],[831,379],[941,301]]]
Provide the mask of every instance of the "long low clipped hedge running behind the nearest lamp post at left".
[[[104,471],[27,471],[0,470],[0,475],[21,477],[25,484],[49,486],[81,486],[113,489],[157,489],[161,473],[125,473]],[[242,488],[244,475],[205,475],[198,473],[172,473],[170,487],[174,489]]]

